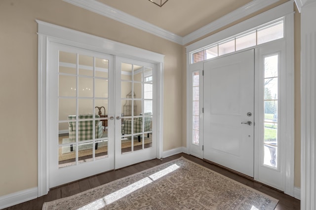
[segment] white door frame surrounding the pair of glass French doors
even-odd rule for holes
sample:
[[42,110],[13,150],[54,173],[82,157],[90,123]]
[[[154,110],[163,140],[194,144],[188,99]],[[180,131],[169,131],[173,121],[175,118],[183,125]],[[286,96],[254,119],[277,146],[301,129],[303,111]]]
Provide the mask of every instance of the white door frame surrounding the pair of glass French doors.
[[163,136],[163,58],[164,55],[122,44],[102,37],[85,34],[37,20],[38,23],[38,196],[46,195],[49,183],[49,110],[48,62],[51,42],[68,44],[101,53],[135,59],[157,65],[157,158],[162,156]]

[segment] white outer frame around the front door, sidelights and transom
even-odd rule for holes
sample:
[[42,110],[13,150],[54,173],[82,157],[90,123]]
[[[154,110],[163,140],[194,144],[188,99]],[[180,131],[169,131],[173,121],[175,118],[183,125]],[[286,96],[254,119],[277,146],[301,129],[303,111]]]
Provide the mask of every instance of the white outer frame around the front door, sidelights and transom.
[[[294,13],[293,13],[293,2],[288,1],[280,6],[270,9],[264,13],[254,16],[248,20],[245,20],[235,26],[218,32],[214,35],[208,36],[201,39],[189,46],[187,46],[187,153],[191,153],[192,149],[195,148],[194,152],[198,157],[202,157],[202,150],[197,151],[196,146],[192,143],[192,72],[201,70],[203,62],[198,62],[191,64],[191,52],[198,51],[198,49],[203,49],[205,46],[209,46],[212,43],[219,42],[225,38],[232,37],[239,33],[245,32],[262,24],[268,23],[270,21],[276,20],[277,18],[284,17],[284,36],[286,42],[286,74],[284,78],[284,87],[282,90],[286,90],[284,93],[285,101],[281,108],[286,112],[286,125],[283,130],[283,135],[286,136],[286,145],[284,153],[284,165],[283,165],[283,183],[284,183],[284,193],[290,196],[294,196]],[[260,45],[258,45],[260,47]],[[258,48],[253,47],[253,48]],[[246,49],[245,49],[246,50]],[[229,55],[229,54],[228,54]],[[255,68],[258,68],[256,66]],[[255,81],[258,83],[258,81]],[[256,86],[255,86],[256,88]],[[256,95],[255,89],[255,95]],[[256,104],[255,104],[256,105]],[[255,113],[256,115],[256,113]],[[200,125],[202,126],[202,125]],[[256,129],[256,128],[255,128]],[[282,132],[282,131],[281,131]],[[255,130],[255,138],[256,138]],[[257,154],[259,146],[256,144],[255,139],[255,154]],[[258,169],[259,157],[255,156],[255,179],[256,179],[256,168]]]

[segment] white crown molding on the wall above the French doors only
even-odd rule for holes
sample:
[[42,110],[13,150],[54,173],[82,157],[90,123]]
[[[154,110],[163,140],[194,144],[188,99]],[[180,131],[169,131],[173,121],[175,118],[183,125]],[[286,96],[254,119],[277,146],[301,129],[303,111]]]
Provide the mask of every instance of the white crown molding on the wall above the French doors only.
[[175,43],[182,45],[182,36],[176,35],[169,31],[159,28],[151,23],[134,17],[130,14],[122,12],[114,7],[101,3],[97,0],[64,0],[73,5],[79,6],[81,8],[87,9],[89,11],[95,12],[97,14],[103,15],[105,17],[111,18],[118,22],[124,23],[126,25],[132,26],[136,29],[148,32],[153,35],[157,35],[161,38],[173,41]]

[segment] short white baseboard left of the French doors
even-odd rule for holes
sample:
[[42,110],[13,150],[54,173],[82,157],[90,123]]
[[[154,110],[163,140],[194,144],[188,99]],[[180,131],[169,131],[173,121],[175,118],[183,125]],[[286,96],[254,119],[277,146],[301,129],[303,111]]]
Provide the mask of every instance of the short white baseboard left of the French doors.
[[0,210],[17,204],[21,204],[26,201],[33,200],[35,198],[38,198],[37,187],[0,196]]

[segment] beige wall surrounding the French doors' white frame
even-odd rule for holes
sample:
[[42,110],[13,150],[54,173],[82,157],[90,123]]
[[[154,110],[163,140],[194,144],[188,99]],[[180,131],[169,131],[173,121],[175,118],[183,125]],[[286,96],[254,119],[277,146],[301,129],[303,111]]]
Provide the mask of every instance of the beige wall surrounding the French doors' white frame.
[[0,196],[38,185],[36,19],[165,55],[163,150],[182,146],[183,46],[62,0],[1,0]]

